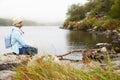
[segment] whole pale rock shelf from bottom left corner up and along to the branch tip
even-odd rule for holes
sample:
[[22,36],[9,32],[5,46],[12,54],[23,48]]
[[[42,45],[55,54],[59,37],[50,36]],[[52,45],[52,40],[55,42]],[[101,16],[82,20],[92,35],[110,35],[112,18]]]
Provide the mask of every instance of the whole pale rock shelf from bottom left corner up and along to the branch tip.
[[60,63],[59,59],[54,55],[0,55],[0,80],[11,80],[11,76],[15,74],[14,68],[21,64],[34,63],[35,60],[41,58],[43,61],[52,60]]

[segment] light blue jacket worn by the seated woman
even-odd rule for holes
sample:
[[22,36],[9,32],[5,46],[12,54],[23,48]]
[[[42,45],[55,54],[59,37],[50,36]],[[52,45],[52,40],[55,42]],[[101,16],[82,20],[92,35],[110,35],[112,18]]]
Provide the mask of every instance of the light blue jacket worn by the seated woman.
[[19,54],[19,48],[31,46],[23,39],[23,31],[17,27],[12,28],[11,44],[12,51],[16,54]]

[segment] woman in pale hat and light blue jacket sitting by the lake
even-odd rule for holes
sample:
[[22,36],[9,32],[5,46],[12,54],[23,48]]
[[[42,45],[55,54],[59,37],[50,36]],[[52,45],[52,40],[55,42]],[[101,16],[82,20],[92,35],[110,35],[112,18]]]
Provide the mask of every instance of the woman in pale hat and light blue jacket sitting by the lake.
[[23,27],[23,21],[21,18],[13,18],[12,34],[11,34],[11,44],[12,51],[14,54],[37,54],[37,48],[28,44],[24,38],[24,32],[21,30]]

